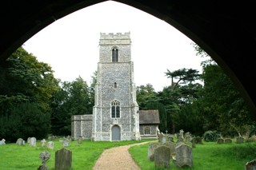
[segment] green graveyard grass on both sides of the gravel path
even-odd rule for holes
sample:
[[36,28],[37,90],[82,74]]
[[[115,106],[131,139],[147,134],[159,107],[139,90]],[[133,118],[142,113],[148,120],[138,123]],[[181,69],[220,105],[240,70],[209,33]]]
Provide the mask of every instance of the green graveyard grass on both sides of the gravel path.
[[[0,169],[5,170],[34,170],[42,162],[39,154],[42,151],[50,152],[50,160],[46,162],[50,170],[54,170],[55,152],[62,148],[62,143],[54,140],[54,149],[41,147],[41,140],[38,140],[37,146],[32,147],[29,144],[18,146],[17,144],[0,145],[2,158],[0,159]],[[84,170],[92,169],[101,153],[106,148],[113,148],[121,145],[140,143],[150,140],[141,141],[117,141],[117,142],[92,142],[83,140],[78,145],[77,141],[70,141],[70,146],[66,147],[72,151],[72,169]],[[129,152],[134,161],[142,170],[155,170],[154,161],[147,160],[147,150],[149,144],[137,145],[129,148]],[[203,142],[196,144],[192,149],[194,170],[241,170],[244,169],[246,162],[256,158],[256,142],[243,144],[217,144],[215,142]],[[174,165],[170,160],[169,169],[181,169]]]

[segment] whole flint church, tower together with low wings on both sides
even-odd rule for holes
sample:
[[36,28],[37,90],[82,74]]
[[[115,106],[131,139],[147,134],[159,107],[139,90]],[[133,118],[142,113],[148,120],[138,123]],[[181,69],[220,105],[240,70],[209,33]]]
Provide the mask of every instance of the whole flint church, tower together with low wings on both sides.
[[139,110],[130,32],[100,34],[93,114],[71,117],[71,136],[92,141],[157,138],[158,110]]

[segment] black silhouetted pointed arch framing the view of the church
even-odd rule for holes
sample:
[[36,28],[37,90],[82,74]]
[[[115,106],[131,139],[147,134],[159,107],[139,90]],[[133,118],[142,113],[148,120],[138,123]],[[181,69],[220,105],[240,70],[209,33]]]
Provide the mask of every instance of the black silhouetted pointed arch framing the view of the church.
[[[102,0],[4,0],[0,7],[0,61],[59,18]],[[256,118],[256,10],[254,1],[118,0],[160,18],[213,57],[240,89]]]

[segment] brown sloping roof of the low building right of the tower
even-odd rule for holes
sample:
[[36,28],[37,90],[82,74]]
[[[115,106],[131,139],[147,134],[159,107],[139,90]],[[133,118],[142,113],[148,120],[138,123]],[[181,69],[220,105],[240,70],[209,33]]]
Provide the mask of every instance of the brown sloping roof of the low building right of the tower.
[[158,110],[139,110],[139,124],[160,124]]

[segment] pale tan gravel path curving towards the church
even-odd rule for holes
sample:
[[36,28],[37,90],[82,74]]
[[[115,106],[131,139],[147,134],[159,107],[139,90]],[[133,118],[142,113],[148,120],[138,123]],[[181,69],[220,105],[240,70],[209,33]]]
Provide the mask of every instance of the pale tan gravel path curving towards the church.
[[[142,142],[139,144],[146,144],[149,142]],[[126,146],[118,146],[115,148],[108,148],[97,160],[94,165],[94,170],[140,170],[138,164],[134,162],[128,148],[139,145],[139,144],[130,144]]]

